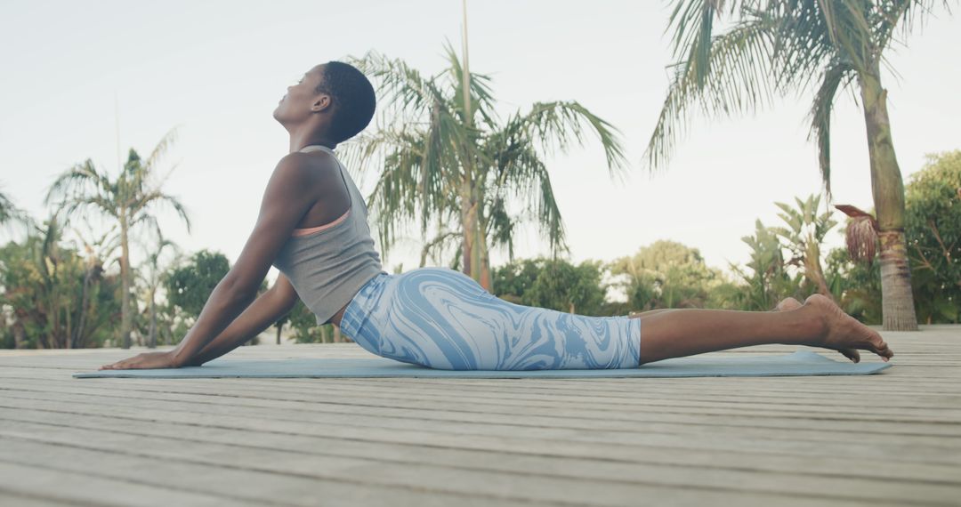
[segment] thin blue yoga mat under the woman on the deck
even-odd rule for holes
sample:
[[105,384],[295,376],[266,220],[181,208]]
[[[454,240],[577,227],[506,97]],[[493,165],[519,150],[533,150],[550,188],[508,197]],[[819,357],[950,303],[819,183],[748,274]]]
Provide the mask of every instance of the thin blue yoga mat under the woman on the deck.
[[827,374],[875,374],[892,365],[834,361],[820,354],[799,350],[786,355],[749,357],[680,357],[612,370],[431,370],[385,359],[214,359],[204,366],[164,370],[102,370],[73,374],[77,378],[106,376],[146,378],[293,378],[293,377],[445,377],[445,378],[597,378],[625,376],[797,376]]

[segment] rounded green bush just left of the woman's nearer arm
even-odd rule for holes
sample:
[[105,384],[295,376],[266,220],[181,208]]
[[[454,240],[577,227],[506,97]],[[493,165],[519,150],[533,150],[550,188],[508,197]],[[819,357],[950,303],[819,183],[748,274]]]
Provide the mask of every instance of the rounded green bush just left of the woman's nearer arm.
[[189,319],[200,316],[210,293],[231,270],[224,254],[201,250],[163,281],[167,301]]

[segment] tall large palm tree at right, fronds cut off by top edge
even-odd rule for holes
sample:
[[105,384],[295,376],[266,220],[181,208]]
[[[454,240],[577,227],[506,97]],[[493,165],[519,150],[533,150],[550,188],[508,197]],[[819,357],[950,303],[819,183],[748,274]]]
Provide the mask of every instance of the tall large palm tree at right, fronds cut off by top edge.
[[[675,65],[647,149],[652,167],[670,156],[692,106],[711,115],[749,111],[774,95],[813,92],[810,137],[830,196],[830,115],[856,84],[868,133],[881,253],[884,328],[917,329],[904,241],[904,187],[881,85],[884,52],[947,0],[676,0]],[[721,17],[729,29],[715,34]]]

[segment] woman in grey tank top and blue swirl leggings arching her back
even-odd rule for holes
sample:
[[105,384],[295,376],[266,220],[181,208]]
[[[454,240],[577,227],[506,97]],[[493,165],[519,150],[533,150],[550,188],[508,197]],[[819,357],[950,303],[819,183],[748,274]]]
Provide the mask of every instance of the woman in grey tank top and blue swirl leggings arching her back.
[[[274,118],[290,153],[274,169],[257,224],[234,267],[210,293],[175,349],[146,352],[102,370],[199,366],[257,336],[303,300],[317,323],[399,361],[448,370],[636,368],[684,355],[760,344],[858,350],[887,361],[881,336],[821,295],[774,311],[664,309],[586,317],[505,302],[454,270],[382,270],[367,207],[333,148],[374,115],[370,82],[331,61],[287,88]],[[629,232],[629,231],[628,231]],[[258,287],[270,266],[281,274]],[[256,301],[255,301],[256,300]]]

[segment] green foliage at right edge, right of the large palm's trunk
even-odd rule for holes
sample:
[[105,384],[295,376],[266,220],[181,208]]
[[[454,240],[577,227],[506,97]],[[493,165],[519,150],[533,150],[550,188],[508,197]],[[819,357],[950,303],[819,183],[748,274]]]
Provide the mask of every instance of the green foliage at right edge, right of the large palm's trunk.
[[905,194],[904,233],[918,319],[961,322],[961,151],[929,155]]

